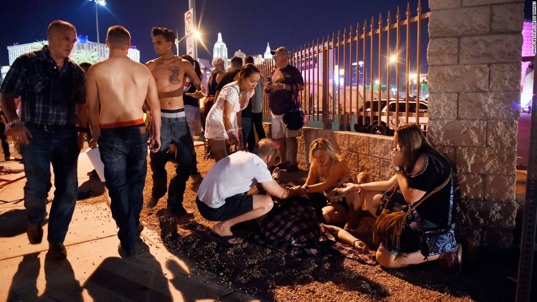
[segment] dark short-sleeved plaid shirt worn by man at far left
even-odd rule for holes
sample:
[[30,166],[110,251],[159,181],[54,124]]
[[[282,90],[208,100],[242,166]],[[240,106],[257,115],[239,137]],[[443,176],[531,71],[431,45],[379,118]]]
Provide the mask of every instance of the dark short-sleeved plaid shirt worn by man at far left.
[[48,46],[44,46],[13,62],[0,92],[21,96],[23,122],[76,124],[75,105],[86,102],[82,93],[85,82],[84,71],[69,58],[59,72]]

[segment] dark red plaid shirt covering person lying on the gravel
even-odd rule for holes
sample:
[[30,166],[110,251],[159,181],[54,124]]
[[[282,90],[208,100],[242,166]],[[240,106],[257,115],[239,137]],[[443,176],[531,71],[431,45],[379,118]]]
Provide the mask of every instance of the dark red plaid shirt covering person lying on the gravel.
[[375,256],[360,253],[340,244],[329,232],[330,226],[318,223],[313,208],[297,202],[289,202],[267,214],[260,234],[253,239],[260,245],[291,254],[322,256],[338,252],[353,260],[375,264]]

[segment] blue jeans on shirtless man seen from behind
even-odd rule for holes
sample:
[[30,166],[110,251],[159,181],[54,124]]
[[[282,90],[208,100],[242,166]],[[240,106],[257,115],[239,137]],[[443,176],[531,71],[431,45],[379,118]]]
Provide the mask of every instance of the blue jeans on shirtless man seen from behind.
[[119,241],[123,249],[132,251],[139,240],[136,227],[140,225],[146,185],[146,126],[101,129],[99,151]]

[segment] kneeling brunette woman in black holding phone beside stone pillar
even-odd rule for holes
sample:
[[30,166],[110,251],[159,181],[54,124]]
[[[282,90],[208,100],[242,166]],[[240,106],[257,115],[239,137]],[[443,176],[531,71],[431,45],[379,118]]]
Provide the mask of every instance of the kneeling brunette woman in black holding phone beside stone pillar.
[[361,185],[345,183],[345,188],[335,191],[349,194],[361,189],[362,202],[365,200],[367,209],[375,217],[383,209],[396,211],[394,204],[400,211],[409,212],[403,227],[393,232],[393,237],[387,234],[388,228],[383,227],[387,216],[382,214],[375,223],[374,237],[388,237],[382,240],[376,252],[381,266],[400,268],[440,259],[442,271],[459,274],[461,246],[453,235],[452,215],[456,207],[451,164],[431,146],[416,124],[396,129],[391,158],[395,175],[389,180]]

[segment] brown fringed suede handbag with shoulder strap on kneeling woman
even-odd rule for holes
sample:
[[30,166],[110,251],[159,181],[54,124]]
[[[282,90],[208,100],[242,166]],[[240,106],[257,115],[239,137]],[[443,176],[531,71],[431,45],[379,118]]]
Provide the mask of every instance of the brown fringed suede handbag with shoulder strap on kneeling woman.
[[[407,207],[406,209],[393,208],[390,210],[388,209],[388,207],[384,207],[379,215],[379,218],[376,219],[375,224],[373,225],[373,241],[375,243],[378,243],[382,238],[382,242],[384,244],[399,248],[401,243],[401,233],[405,228],[405,223],[407,222],[407,217],[409,213],[415,210],[418,205],[420,205],[427,198],[429,198],[429,196],[433,195],[438,190],[444,188],[450,179],[451,173],[449,173],[449,176],[446,181],[444,181],[444,183],[442,183],[436,189],[432,190],[429,194],[423,196],[422,199],[412,204],[410,207]],[[397,185],[394,190],[394,193],[391,194],[390,199],[398,190],[398,188],[399,186]]]

